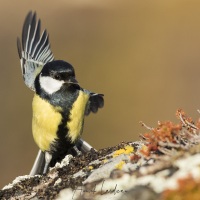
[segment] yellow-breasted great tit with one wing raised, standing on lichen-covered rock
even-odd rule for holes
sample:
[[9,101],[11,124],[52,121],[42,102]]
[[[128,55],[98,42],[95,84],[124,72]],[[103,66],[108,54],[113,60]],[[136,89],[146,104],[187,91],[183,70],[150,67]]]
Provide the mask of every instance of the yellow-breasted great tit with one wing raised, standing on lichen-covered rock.
[[81,139],[84,117],[104,106],[104,95],[82,88],[74,67],[54,58],[36,12],[28,12],[17,50],[24,82],[34,92],[32,134],[40,149],[30,174],[45,174],[73,147],[91,149]]

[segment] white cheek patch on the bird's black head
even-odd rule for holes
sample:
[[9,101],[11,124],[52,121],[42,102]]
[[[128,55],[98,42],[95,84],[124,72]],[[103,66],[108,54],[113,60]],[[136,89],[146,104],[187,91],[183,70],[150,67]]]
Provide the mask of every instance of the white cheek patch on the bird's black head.
[[62,87],[64,81],[59,81],[51,78],[50,76],[41,76],[39,77],[39,82],[41,88],[48,94],[53,94],[57,92]]

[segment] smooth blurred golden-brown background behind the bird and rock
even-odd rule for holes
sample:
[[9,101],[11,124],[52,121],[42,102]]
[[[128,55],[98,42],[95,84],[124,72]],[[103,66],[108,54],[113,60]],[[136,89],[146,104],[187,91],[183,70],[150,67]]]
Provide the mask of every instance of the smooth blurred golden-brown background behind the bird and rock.
[[33,93],[16,48],[29,10],[50,33],[52,51],[75,67],[81,86],[105,94],[86,118],[83,138],[96,149],[138,140],[157,121],[177,122],[200,108],[200,1],[1,0],[0,188],[28,174],[38,147],[31,133]]

